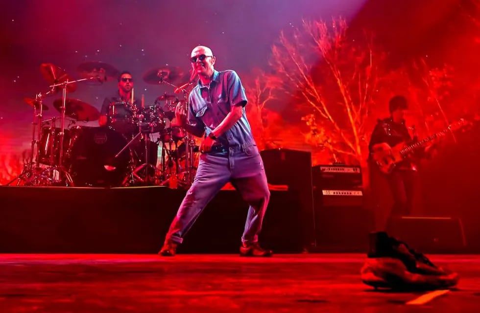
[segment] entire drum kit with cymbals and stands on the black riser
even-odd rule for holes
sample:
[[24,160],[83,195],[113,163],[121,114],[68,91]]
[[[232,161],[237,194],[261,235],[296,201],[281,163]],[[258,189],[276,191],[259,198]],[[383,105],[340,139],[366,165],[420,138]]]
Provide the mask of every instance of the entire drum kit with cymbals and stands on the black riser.
[[[106,125],[89,127],[77,126],[76,122],[96,121],[100,112],[67,94],[74,92],[81,82],[102,84],[116,80],[119,71],[103,62],[83,63],[77,70],[80,79],[72,79],[63,68],[51,63],[40,66],[49,89],[34,98],[24,98],[33,108],[31,159],[25,163],[23,172],[8,184],[188,188],[195,174],[198,146],[192,135],[174,122],[175,108],[179,104],[187,105],[192,85],[175,85],[182,82],[182,71],[177,67],[157,67],[143,77],[147,84],[167,84],[175,88],[175,93],[181,93],[180,98],[164,93],[153,105],[146,106],[144,101],[141,106],[113,102],[109,104]],[[53,108],[60,116],[44,120],[44,112],[49,110],[44,99],[59,92],[62,95],[53,101]],[[125,110],[131,114],[122,115]],[[153,141],[155,134],[158,137]],[[157,166],[159,144],[162,144],[162,154]]]

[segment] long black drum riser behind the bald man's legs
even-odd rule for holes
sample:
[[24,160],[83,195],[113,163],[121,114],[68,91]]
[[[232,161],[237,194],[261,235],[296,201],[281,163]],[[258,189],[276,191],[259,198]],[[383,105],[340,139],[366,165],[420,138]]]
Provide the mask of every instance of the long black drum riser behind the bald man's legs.
[[[0,253],[156,253],[185,191],[166,187],[0,187]],[[248,205],[221,191],[179,252],[236,253]],[[272,191],[261,240],[299,252],[298,198]]]

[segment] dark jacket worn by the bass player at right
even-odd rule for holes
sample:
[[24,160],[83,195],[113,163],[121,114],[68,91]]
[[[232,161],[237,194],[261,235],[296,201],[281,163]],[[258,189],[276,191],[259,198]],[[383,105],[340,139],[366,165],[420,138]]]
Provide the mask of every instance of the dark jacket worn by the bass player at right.
[[[373,129],[370,143],[368,144],[368,150],[370,152],[369,158],[371,158],[373,145],[382,142],[386,142],[390,147],[393,147],[401,142],[411,144],[413,139],[408,132],[407,126],[405,126],[405,121],[402,123],[395,123],[392,118],[389,117],[378,120],[377,125]],[[413,168],[413,164],[407,159],[398,163],[396,168],[410,170]]]

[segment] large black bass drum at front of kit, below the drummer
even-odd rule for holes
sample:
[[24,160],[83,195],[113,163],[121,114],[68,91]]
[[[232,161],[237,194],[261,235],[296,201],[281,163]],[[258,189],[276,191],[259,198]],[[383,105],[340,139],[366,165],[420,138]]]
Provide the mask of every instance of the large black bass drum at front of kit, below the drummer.
[[119,187],[126,176],[129,149],[115,156],[127,144],[110,127],[75,129],[71,150],[71,175],[75,186]]

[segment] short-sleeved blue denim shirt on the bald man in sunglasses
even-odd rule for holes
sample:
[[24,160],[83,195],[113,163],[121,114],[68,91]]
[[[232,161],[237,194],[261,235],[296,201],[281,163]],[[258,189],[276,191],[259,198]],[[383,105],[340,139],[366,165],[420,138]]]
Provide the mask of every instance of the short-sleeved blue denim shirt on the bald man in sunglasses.
[[233,70],[214,70],[210,85],[198,84],[190,93],[188,123],[210,134],[230,112],[232,105],[243,106],[240,119],[217,138],[214,145],[224,147],[255,145],[252,130],[245,113],[247,97],[239,75]]

